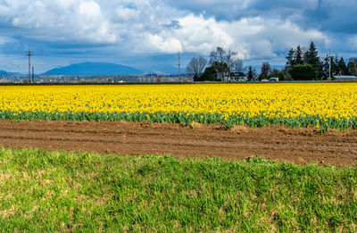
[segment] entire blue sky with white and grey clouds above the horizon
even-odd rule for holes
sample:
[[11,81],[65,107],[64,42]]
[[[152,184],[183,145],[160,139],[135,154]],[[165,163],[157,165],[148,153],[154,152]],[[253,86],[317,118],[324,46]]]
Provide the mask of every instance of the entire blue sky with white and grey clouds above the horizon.
[[0,70],[36,71],[75,62],[115,62],[172,71],[215,47],[245,65],[285,63],[314,41],[357,56],[357,0],[0,0]]

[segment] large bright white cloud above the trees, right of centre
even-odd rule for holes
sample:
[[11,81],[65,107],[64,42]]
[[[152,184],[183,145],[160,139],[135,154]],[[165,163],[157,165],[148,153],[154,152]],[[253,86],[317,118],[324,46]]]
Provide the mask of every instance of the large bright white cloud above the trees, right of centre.
[[274,58],[278,56],[277,52],[287,51],[292,46],[307,45],[311,40],[325,43],[328,39],[317,29],[303,30],[289,21],[259,17],[217,21],[191,13],[174,20],[179,22],[177,29],[162,29],[149,37],[137,33],[136,43],[142,45],[140,49],[144,49],[144,53],[147,50],[173,53],[182,49],[209,54],[216,46],[223,46],[237,51],[242,59]]

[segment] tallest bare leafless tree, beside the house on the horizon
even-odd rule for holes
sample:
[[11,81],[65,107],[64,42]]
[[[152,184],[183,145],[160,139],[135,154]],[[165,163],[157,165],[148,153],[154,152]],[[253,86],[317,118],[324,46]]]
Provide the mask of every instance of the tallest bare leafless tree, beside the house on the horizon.
[[237,62],[237,52],[226,51],[222,47],[217,47],[210,54],[210,64],[220,73],[221,77],[230,76],[230,72],[235,68]]

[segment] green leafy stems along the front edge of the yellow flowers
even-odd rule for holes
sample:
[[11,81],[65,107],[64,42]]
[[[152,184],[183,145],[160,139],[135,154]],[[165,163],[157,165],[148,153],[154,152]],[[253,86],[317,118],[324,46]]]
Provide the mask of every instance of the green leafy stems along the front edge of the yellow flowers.
[[319,115],[307,115],[294,118],[283,117],[249,117],[247,114],[229,115],[220,113],[191,112],[0,112],[3,120],[49,120],[49,121],[149,121],[189,124],[193,121],[203,124],[233,125],[246,124],[249,127],[285,125],[288,128],[316,127],[321,131],[328,129],[357,129],[357,117],[353,119],[324,118]]

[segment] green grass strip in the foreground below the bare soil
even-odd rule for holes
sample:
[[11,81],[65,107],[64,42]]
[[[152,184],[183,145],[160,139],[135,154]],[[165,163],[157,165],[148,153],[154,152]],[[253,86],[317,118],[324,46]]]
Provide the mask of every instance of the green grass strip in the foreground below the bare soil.
[[357,230],[357,168],[0,149],[0,231]]

